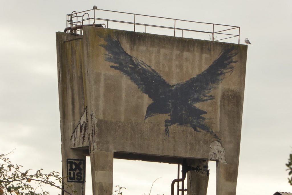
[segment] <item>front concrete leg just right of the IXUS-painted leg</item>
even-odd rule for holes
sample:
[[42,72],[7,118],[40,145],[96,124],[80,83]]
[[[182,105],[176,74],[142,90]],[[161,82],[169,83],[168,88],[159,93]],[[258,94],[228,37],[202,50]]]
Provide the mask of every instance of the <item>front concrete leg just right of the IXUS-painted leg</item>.
[[91,151],[90,161],[93,195],[111,195],[114,153]]

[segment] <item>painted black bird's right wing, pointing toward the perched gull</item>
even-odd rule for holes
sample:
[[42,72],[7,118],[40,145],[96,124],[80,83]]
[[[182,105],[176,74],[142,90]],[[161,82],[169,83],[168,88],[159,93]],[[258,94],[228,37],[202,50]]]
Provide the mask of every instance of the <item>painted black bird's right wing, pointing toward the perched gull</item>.
[[190,103],[214,99],[212,95],[208,94],[223,81],[225,74],[232,73],[234,69],[232,63],[237,62],[233,60],[233,57],[238,53],[232,53],[233,50],[233,47],[224,48],[219,57],[202,73],[186,82],[175,84],[176,91]]

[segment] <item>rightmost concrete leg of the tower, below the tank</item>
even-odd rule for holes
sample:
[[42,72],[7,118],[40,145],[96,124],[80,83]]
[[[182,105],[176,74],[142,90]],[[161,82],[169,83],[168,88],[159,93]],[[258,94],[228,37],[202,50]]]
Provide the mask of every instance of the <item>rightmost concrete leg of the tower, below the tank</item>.
[[217,195],[235,195],[237,184],[237,165],[224,164],[218,161],[216,163],[216,194]]

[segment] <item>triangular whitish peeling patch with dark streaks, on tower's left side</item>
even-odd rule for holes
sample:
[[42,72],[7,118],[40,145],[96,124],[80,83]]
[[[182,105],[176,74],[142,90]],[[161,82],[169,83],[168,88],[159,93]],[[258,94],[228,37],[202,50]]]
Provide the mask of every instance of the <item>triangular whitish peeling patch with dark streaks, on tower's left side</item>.
[[88,120],[87,120],[87,107],[82,114],[77,127],[75,127],[71,138],[70,147],[78,148],[83,146],[89,146],[88,143]]

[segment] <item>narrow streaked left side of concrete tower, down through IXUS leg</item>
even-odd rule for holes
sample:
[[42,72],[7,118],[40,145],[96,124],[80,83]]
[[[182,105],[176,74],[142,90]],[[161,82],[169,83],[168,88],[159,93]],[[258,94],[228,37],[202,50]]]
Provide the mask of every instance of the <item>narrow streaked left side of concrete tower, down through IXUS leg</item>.
[[[77,39],[78,38],[78,39]],[[58,60],[58,87],[59,87],[59,106],[60,124],[62,139],[62,175],[70,177],[65,182],[77,189],[78,194],[85,194],[85,159],[86,155],[82,150],[71,149],[70,138],[75,129],[78,129],[80,119],[86,108],[85,83],[84,83],[84,52],[83,39],[67,33],[57,32],[57,60]],[[82,120],[81,120],[82,121]],[[87,132],[87,128],[79,128]],[[84,133],[86,133],[84,132]],[[80,136],[79,145],[88,145],[88,139]],[[79,143],[79,139],[77,143]],[[67,162],[68,159],[68,162]],[[79,159],[83,164],[80,167],[83,171],[69,171],[70,163]],[[68,166],[67,166],[68,165]],[[73,169],[75,169],[75,165]],[[71,167],[72,168],[72,167]],[[74,172],[74,173],[73,173]],[[77,175],[77,173],[79,175]],[[70,180],[71,178],[71,180]],[[65,190],[71,190],[65,186]]]

